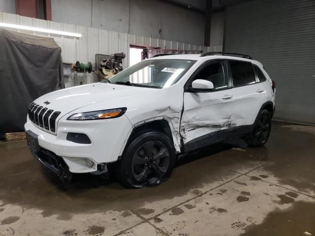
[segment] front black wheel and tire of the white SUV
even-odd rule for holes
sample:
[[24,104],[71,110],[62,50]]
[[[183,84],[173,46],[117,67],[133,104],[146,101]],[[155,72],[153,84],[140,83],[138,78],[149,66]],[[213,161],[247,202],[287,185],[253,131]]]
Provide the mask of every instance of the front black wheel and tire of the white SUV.
[[127,188],[156,186],[168,179],[175,162],[174,145],[165,134],[141,132],[124,151],[118,179]]

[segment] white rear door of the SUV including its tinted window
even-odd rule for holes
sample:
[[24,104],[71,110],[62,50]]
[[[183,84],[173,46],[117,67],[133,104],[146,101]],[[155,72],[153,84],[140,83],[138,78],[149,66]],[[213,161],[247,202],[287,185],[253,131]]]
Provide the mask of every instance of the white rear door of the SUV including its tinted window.
[[252,125],[267,101],[266,89],[254,73],[253,64],[243,60],[228,60],[234,98],[231,122],[236,126]]

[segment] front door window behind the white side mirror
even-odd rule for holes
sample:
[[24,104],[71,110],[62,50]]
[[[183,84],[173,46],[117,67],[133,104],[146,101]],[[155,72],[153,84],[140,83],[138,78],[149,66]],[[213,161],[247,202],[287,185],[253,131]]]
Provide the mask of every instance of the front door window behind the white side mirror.
[[194,78],[194,80],[202,79],[213,83],[214,89],[227,88],[227,76],[225,75],[224,63],[215,62],[203,68]]

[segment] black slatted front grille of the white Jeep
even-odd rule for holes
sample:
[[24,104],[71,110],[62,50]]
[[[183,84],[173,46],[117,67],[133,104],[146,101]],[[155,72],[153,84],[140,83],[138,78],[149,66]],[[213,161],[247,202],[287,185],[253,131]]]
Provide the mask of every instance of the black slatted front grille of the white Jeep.
[[60,114],[61,112],[48,110],[47,107],[39,106],[34,102],[28,107],[28,115],[32,123],[53,133],[56,132],[56,119]]

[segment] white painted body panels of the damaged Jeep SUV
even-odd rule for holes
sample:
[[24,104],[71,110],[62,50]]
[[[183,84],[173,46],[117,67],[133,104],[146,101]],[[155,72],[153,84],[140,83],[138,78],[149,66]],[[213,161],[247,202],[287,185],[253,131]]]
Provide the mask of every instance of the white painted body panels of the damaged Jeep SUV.
[[[272,101],[269,81],[207,93],[184,93],[184,85],[202,63],[206,60],[222,58],[235,59],[226,56],[199,57],[199,55],[154,58],[196,60],[176,84],[163,89],[95,83],[48,93],[34,102],[61,112],[57,120],[57,133],[46,132],[33,124],[29,118],[25,124],[25,130],[32,130],[38,134],[39,145],[59,156],[88,158],[95,163],[107,163],[116,161],[122,155],[133,128],[152,120],[165,119],[171,128],[174,148],[180,152],[182,138],[184,143],[187,143],[210,132],[252,124],[261,104]],[[254,60],[240,60],[251,61],[261,66]],[[266,92],[257,94],[255,89],[260,87]],[[231,99],[222,98],[228,94],[233,94]],[[45,101],[49,101],[50,104],[45,105],[43,103]],[[180,123],[183,103],[185,110]],[[76,113],[120,107],[127,107],[127,111],[119,118],[67,120],[69,116]],[[68,132],[84,133],[91,139],[92,144],[76,144],[67,141]],[[84,161],[79,163],[81,166],[78,168],[78,163],[72,163],[69,160],[67,159],[68,165],[76,165],[70,167],[70,170],[91,171],[91,167],[82,167]]]

